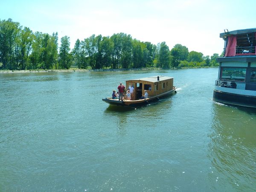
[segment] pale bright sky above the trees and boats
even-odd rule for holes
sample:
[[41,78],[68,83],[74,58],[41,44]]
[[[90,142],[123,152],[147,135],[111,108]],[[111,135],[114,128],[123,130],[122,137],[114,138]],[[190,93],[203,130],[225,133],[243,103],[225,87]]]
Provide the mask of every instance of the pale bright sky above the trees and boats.
[[139,41],[182,44],[219,55],[224,29],[256,28],[256,0],[0,0],[0,20],[77,39],[123,32]]

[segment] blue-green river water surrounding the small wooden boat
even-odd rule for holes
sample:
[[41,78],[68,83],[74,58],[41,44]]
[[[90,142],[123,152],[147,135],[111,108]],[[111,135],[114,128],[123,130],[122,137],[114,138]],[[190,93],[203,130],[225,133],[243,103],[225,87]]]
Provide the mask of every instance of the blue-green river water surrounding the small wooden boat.
[[[173,96],[102,102],[172,76]],[[0,74],[0,191],[254,191],[256,111],[212,101],[218,68]]]

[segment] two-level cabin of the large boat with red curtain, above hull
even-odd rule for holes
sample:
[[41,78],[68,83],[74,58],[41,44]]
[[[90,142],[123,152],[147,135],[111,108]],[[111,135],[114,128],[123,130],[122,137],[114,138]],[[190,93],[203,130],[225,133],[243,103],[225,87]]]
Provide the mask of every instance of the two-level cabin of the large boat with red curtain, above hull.
[[256,90],[256,28],[225,31],[220,37],[225,44],[224,57],[217,58],[220,63],[218,85]]

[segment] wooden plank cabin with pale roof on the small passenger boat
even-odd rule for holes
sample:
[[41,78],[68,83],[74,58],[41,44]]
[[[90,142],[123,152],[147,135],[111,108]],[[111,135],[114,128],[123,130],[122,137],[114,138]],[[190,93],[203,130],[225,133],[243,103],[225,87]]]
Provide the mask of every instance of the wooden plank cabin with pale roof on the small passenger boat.
[[158,96],[173,89],[173,77],[152,76],[141,79],[126,81],[126,90],[132,85],[134,87],[134,99],[140,99],[144,90],[147,90],[148,97]]

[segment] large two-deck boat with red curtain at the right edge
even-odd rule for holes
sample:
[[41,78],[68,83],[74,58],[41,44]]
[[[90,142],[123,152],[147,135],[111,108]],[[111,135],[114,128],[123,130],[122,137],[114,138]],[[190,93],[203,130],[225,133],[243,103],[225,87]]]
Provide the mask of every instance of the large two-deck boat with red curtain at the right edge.
[[213,100],[229,105],[256,108],[256,28],[226,31],[224,56],[215,81]]

